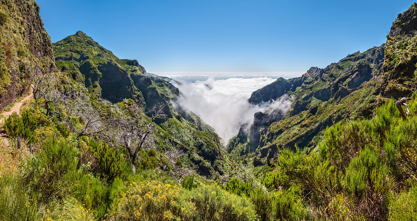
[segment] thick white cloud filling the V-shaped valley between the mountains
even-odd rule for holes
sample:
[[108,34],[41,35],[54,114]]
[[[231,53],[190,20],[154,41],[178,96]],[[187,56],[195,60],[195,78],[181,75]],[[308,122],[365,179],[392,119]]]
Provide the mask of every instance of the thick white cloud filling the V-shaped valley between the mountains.
[[274,81],[269,77],[254,77],[172,83],[183,92],[180,105],[197,114],[227,143],[239,132],[241,124],[253,122],[254,113],[264,112],[269,106],[285,112],[291,107],[288,99],[261,106],[247,101],[252,92]]

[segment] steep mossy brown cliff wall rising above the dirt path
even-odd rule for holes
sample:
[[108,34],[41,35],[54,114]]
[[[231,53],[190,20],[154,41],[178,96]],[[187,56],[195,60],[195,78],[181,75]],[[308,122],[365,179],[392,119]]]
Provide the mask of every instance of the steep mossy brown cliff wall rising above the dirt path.
[[35,68],[55,70],[50,37],[33,0],[0,2],[0,109],[28,92]]

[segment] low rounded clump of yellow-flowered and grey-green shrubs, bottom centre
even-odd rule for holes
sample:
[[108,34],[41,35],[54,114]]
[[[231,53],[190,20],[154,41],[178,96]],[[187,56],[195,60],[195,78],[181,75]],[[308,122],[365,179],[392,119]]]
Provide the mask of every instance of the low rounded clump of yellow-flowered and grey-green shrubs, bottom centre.
[[249,200],[216,186],[189,191],[159,181],[133,183],[123,195],[121,220],[246,221],[256,214]]

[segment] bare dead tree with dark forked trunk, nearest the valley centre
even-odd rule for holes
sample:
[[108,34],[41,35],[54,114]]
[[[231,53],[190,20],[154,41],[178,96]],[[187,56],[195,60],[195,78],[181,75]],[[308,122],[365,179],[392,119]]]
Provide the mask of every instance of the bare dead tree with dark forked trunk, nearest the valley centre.
[[[115,117],[111,120],[114,128],[113,143],[126,149],[129,155],[129,161],[132,166],[133,173],[136,174],[136,158],[138,152],[144,149],[145,144],[150,142],[152,132],[155,130],[156,119],[165,119],[166,114],[163,113],[164,104],[156,104],[147,113],[151,114],[151,119],[146,120],[141,109],[136,104],[131,104],[129,113],[121,117]],[[120,109],[116,113],[122,113]]]

